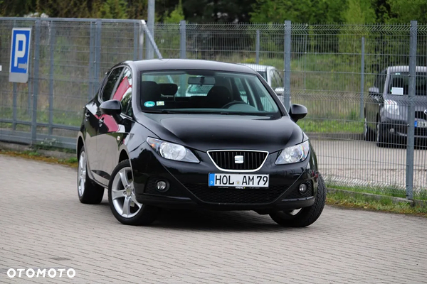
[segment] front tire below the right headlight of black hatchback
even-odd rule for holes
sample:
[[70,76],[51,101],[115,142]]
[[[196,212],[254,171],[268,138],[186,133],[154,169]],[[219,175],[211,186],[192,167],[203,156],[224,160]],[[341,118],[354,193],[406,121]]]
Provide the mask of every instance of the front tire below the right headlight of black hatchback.
[[310,226],[320,217],[326,202],[326,186],[322,176],[319,175],[317,196],[315,203],[310,207],[290,211],[278,211],[270,214],[271,219],[281,226],[304,227]]

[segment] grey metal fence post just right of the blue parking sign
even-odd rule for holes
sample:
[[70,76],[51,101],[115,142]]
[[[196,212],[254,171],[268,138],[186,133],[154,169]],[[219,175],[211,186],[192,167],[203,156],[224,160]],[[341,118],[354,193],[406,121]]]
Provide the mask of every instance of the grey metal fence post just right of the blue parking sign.
[[33,111],[31,115],[31,146],[37,143],[37,98],[40,66],[40,29],[41,21],[36,20],[36,34],[34,35],[34,70],[33,70]]

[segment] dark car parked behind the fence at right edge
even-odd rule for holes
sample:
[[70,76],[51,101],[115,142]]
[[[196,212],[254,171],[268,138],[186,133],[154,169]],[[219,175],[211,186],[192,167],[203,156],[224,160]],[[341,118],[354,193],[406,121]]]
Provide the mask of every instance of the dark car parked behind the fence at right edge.
[[[379,147],[406,144],[408,133],[409,67],[390,66],[369,88],[364,106],[364,138]],[[427,67],[416,67],[415,141],[427,146]]]

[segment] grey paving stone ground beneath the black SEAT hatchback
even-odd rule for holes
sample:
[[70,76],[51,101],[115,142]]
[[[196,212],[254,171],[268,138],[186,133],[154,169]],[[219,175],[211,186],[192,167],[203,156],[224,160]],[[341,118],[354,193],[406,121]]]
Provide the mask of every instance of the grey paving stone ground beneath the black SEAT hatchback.
[[427,283],[419,217],[325,207],[285,229],[255,212],[174,211],[125,226],[106,194],[80,204],[75,169],[0,155],[0,180],[0,283]]

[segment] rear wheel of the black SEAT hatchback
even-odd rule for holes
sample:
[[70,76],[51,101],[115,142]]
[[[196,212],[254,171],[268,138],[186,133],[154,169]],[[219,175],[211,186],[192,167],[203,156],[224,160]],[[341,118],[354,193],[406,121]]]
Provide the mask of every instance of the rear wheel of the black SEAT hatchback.
[[89,178],[85,146],[78,155],[77,193],[78,199],[84,204],[100,204],[104,197],[104,187]]

